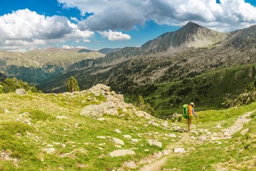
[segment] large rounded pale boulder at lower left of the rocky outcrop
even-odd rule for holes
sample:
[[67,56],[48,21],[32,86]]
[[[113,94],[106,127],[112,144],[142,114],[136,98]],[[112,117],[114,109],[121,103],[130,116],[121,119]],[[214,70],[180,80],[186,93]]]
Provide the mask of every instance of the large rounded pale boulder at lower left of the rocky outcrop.
[[99,105],[90,104],[83,108],[80,115],[90,117],[90,118],[98,118],[101,117],[104,113],[104,108]]

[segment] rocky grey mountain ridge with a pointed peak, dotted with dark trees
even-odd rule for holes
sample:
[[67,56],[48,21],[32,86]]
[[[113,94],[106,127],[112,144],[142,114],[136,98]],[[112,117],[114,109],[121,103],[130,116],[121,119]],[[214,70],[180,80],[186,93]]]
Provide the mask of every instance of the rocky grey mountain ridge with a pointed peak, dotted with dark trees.
[[251,26],[221,33],[189,22],[141,47],[125,47],[104,58],[71,64],[62,75],[38,88],[45,92],[66,91],[65,83],[72,75],[82,89],[103,83],[125,93],[133,86],[174,82],[221,67],[255,63],[255,30],[256,26]]

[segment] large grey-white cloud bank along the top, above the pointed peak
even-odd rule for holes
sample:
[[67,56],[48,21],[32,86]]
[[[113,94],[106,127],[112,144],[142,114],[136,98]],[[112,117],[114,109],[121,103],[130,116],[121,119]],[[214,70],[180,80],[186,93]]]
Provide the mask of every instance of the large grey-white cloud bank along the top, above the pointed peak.
[[[133,30],[147,21],[159,25],[184,25],[188,21],[209,27],[243,28],[256,23],[256,8],[244,0],[57,0],[65,7],[77,7],[83,15],[81,30]],[[213,25],[215,24],[215,25]],[[218,28],[217,28],[218,29]],[[227,30],[227,29],[225,29]]]

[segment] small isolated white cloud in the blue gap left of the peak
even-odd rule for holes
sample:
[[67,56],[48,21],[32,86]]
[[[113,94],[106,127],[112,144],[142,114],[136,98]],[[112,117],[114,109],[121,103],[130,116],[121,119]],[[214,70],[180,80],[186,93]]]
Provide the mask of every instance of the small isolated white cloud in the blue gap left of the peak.
[[98,31],[100,35],[104,38],[108,38],[110,41],[121,41],[121,40],[129,40],[131,36],[128,34],[123,34],[121,31]]

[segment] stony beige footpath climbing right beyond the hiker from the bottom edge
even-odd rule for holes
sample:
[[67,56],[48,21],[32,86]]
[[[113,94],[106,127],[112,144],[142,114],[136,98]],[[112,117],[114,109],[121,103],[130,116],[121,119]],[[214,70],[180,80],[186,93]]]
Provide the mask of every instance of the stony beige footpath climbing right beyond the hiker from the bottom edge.
[[[245,115],[239,116],[238,119],[235,121],[235,123],[229,127],[229,128],[225,128],[222,129],[222,132],[224,132],[224,135],[219,135],[218,140],[220,139],[226,139],[231,137],[231,135],[233,135],[235,132],[240,131],[243,128],[243,124],[245,123],[249,123],[249,121],[251,119],[247,119],[248,116],[251,115],[251,113],[253,112],[247,112],[245,113]],[[220,123],[218,124],[220,125]],[[220,126],[217,128],[220,128]],[[244,131],[242,131],[241,133],[246,133],[246,129]],[[161,170],[161,166],[165,164],[166,160],[168,159],[168,155],[173,154],[173,149],[177,148],[178,146],[182,147],[183,143],[188,143],[190,142],[191,137],[188,135],[188,133],[184,133],[184,137],[183,139],[181,139],[180,141],[178,141],[174,146],[168,146],[168,150],[165,150],[165,153],[162,154],[158,154],[158,157],[151,157],[151,160],[149,162],[145,162],[145,159],[140,161],[141,163],[149,163],[148,165],[143,166],[143,168],[139,169],[139,171],[157,171],[157,170]],[[203,143],[204,140],[201,141],[201,143]],[[161,153],[161,152],[160,152]],[[160,157],[161,156],[161,157]],[[134,165],[136,168],[136,164]],[[131,167],[132,168],[132,167]]]

